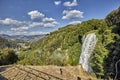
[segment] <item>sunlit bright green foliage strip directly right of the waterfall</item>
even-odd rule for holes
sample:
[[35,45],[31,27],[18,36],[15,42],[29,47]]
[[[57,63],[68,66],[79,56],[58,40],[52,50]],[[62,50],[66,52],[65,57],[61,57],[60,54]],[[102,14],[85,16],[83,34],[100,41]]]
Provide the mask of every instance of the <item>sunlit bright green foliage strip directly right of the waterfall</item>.
[[104,77],[104,58],[109,54],[107,45],[114,43],[114,34],[111,30],[105,30],[104,33],[97,34],[98,42],[91,56],[91,66],[98,78]]

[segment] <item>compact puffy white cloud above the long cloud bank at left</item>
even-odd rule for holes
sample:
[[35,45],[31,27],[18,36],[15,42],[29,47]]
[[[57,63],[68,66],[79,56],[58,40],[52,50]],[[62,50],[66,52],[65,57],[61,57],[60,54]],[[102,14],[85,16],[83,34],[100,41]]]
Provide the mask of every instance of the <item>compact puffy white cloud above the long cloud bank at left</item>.
[[36,19],[36,18],[43,18],[45,15],[38,10],[30,11],[28,12],[28,15],[30,15],[31,19]]

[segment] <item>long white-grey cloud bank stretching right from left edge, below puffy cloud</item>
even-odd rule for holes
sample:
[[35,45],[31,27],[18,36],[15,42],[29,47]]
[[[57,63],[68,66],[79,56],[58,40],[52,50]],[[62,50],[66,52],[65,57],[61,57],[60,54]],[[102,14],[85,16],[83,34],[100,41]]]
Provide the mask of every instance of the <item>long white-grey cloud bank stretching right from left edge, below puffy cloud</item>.
[[11,31],[25,31],[35,27],[55,27],[58,22],[54,18],[43,18],[40,22],[18,21],[11,18],[0,20],[1,25],[11,26]]

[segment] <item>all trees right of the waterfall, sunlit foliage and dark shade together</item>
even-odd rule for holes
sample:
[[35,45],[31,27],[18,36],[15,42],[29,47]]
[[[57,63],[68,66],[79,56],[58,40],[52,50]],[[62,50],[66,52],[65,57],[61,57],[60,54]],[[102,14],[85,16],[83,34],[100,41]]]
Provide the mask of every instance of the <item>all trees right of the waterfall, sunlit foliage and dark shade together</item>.
[[91,56],[91,65],[98,78],[109,79],[115,77],[115,63],[120,59],[120,9],[112,11],[105,20],[109,28],[98,31],[99,41]]

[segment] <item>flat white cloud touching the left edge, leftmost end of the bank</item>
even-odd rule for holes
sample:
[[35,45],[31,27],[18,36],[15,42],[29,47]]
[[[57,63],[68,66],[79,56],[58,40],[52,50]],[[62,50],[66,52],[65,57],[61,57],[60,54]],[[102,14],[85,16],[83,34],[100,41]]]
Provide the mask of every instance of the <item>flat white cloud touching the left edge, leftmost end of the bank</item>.
[[20,26],[20,25],[22,25],[22,22],[13,20],[11,18],[6,18],[4,20],[0,20],[0,24],[6,25],[6,26]]

